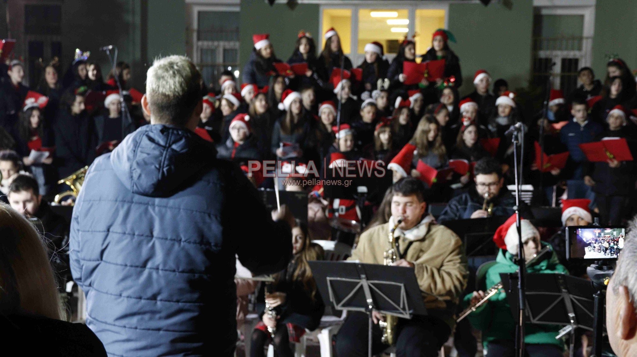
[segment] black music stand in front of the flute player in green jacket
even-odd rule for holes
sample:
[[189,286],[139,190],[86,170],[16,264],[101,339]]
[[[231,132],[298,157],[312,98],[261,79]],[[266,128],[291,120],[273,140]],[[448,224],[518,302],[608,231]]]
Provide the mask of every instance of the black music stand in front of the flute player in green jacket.
[[[517,273],[501,273],[502,286],[513,316],[517,307]],[[562,325],[555,339],[571,334],[570,356],[573,356],[575,328],[593,330],[593,295],[590,281],[568,274],[526,275],[526,316],[528,323]]]

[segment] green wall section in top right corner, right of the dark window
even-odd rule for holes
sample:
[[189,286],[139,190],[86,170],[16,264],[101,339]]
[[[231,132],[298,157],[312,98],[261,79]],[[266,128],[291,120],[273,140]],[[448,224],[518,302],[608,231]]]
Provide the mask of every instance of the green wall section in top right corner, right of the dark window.
[[617,54],[637,68],[637,1],[597,0],[592,67],[596,77],[606,77],[606,55]]

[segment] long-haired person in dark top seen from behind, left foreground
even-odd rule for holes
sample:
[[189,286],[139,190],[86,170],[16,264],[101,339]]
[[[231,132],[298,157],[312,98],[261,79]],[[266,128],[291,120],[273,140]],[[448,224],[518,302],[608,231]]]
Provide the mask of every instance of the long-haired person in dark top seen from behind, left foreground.
[[[62,305],[47,248],[22,214],[0,203],[0,330],[3,338],[38,335],[25,355],[106,356],[86,325],[61,321]],[[50,342],[50,343],[47,343]]]

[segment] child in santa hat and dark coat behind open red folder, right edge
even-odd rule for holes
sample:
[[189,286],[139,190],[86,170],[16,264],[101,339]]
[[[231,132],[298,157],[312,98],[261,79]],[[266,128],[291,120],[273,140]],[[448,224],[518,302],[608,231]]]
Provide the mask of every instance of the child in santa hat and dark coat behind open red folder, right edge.
[[[625,138],[634,158],[637,142],[634,131],[626,126],[626,117],[624,106],[613,107],[606,117],[608,129],[596,141]],[[635,168],[634,161],[617,161],[614,158],[583,165],[584,182],[592,184],[592,191],[595,192],[600,224],[622,224],[622,220],[627,218],[627,206],[637,180]]]

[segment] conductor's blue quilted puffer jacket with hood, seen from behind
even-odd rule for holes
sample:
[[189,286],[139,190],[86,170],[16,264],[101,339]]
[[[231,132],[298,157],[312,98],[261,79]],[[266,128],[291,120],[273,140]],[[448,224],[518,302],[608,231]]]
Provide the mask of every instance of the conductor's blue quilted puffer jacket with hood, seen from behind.
[[143,126],[90,166],[70,258],[109,356],[231,356],[235,255],[255,274],[292,257],[236,166],[192,131]]

